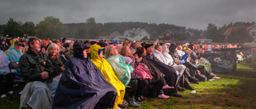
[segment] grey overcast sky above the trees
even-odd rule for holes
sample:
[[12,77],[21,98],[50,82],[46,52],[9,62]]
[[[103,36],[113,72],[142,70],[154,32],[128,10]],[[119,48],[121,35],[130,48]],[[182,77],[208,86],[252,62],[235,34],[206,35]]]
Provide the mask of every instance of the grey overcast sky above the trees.
[[[0,24],[33,21],[47,16],[63,23],[142,21],[206,29],[231,21],[255,21],[256,0],[0,0]],[[137,28],[137,27],[135,27]]]

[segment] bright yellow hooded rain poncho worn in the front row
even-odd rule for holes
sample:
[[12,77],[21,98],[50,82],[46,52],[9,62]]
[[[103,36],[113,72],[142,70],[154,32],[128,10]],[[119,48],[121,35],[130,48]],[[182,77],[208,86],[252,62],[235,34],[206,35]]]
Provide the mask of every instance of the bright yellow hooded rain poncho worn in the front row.
[[117,90],[118,95],[114,102],[114,109],[116,109],[118,107],[118,104],[122,105],[122,100],[126,93],[126,88],[124,84],[122,84],[122,82],[118,80],[118,77],[114,74],[114,70],[111,67],[111,65],[104,58],[100,58],[98,56],[99,49],[104,49],[104,47],[101,47],[100,45],[90,46],[90,56],[91,56],[90,60],[102,72],[106,80],[109,81],[110,84],[112,84],[114,88]]

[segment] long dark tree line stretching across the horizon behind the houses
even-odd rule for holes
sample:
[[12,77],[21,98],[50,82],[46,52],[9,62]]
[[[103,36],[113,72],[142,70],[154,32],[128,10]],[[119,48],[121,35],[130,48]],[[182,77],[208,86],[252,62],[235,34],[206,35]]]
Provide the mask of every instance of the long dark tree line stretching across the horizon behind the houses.
[[[88,18],[85,22],[63,24],[59,18],[52,16],[44,18],[38,24],[34,24],[32,21],[22,22],[14,21],[10,18],[6,25],[0,25],[0,32],[4,36],[7,34],[9,37],[22,37],[24,34],[29,36],[36,36],[40,38],[78,38],[78,39],[90,39],[104,35],[104,33],[112,33],[118,31],[123,33],[127,29],[146,29],[151,34],[152,39],[158,38],[166,30],[180,31],[184,33],[175,34],[177,41],[183,41],[186,39],[186,30],[190,33],[194,33],[194,36],[204,35],[206,38],[212,39],[214,42],[232,42],[242,43],[246,41],[252,41],[253,37],[250,37],[249,33],[244,28],[245,26],[254,25],[254,22],[230,22],[228,25],[217,27],[214,24],[209,24],[206,30],[202,29],[186,29],[186,27],[171,25],[171,24],[156,24],[146,22],[107,22],[97,23],[94,18]],[[230,27],[240,27],[234,30],[229,37],[223,35]],[[102,34],[103,33],[103,34]],[[239,40],[237,40],[239,39]]]

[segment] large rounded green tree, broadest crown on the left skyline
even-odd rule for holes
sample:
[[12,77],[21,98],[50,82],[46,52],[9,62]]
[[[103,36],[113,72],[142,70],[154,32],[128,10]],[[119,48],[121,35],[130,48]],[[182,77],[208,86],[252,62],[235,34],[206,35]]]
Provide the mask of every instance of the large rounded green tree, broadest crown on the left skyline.
[[36,36],[40,38],[60,38],[62,34],[62,22],[59,18],[52,16],[40,21],[35,30]]

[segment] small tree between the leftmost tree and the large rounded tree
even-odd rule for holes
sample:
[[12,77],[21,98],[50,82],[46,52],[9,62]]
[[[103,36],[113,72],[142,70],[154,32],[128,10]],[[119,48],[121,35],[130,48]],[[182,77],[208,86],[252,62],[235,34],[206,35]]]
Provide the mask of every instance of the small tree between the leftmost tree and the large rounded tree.
[[32,21],[26,21],[22,25],[22,30],[24,33],[28,34],[29,36],[34,36],[35,35],[35,26],[34,22]]

